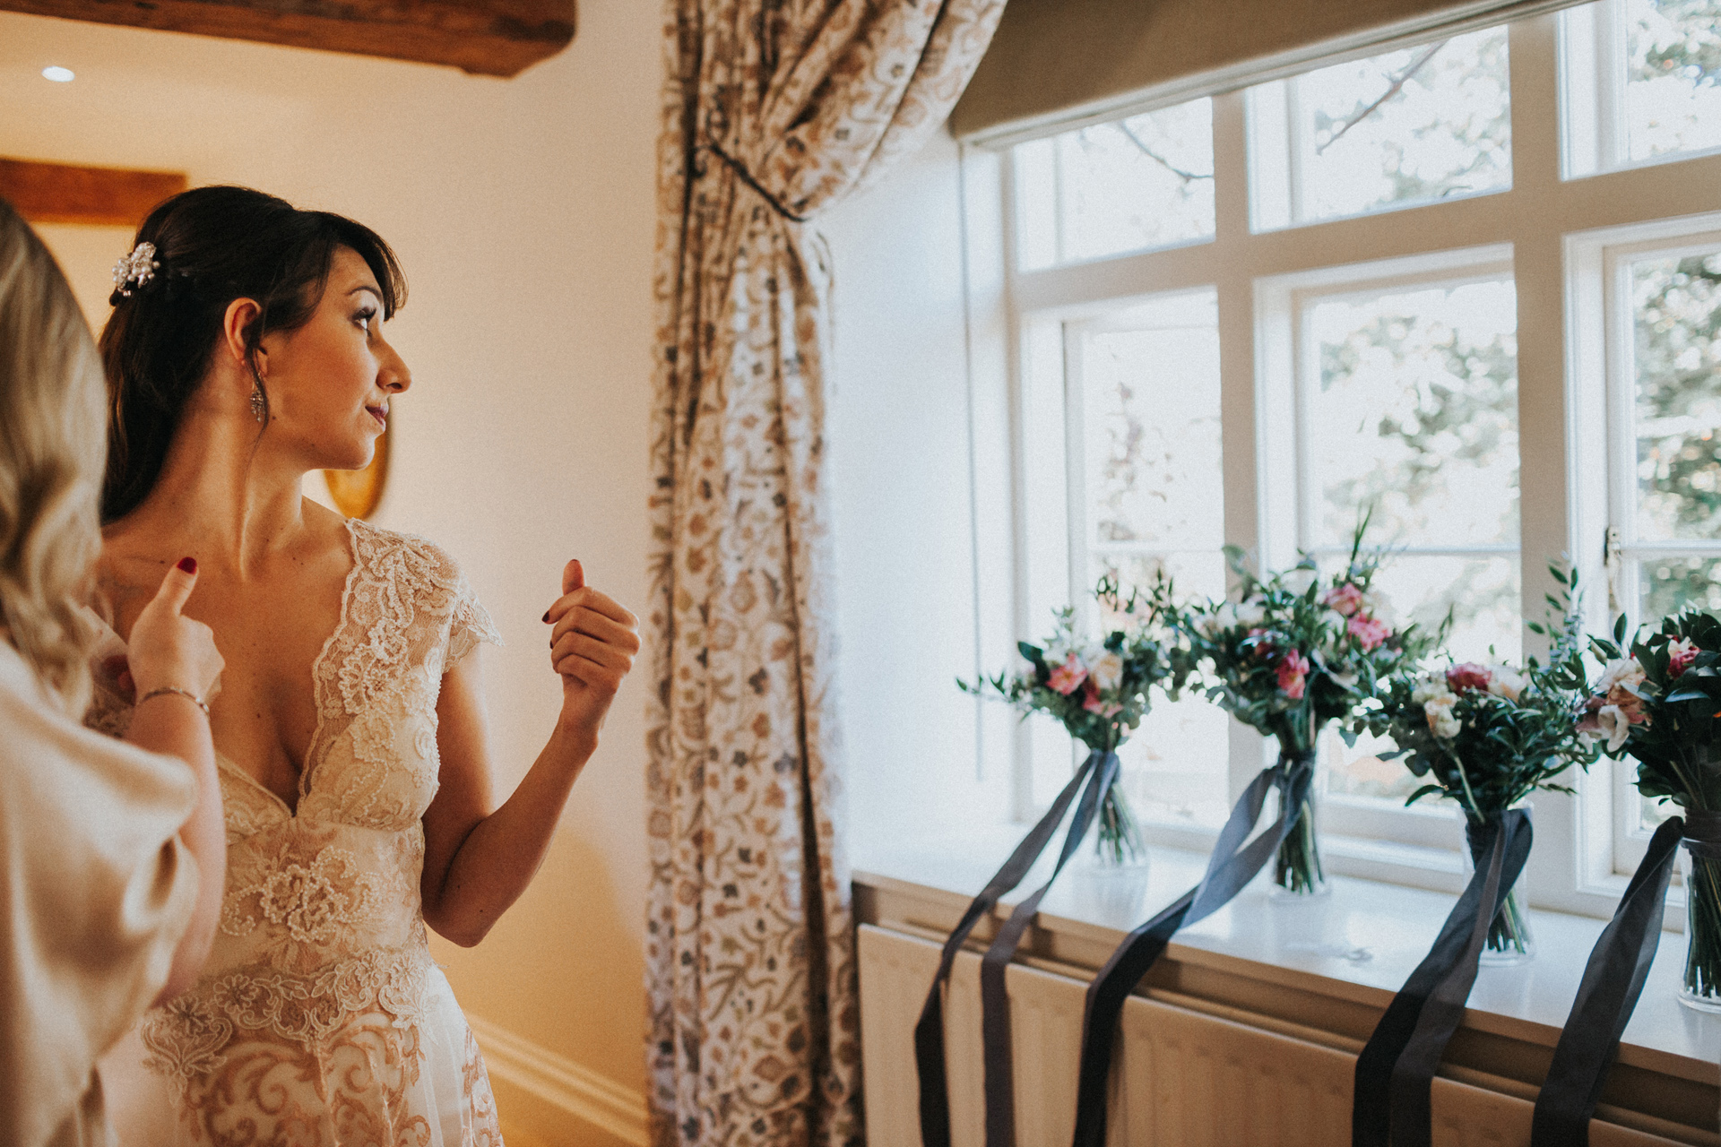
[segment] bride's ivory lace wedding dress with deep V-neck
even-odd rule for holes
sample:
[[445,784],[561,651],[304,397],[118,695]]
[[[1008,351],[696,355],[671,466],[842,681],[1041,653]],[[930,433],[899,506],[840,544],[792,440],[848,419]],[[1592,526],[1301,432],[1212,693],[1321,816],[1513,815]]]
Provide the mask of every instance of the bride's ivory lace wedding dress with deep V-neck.
[[[353,571],[312,672],[317,729],[298,808],[217,753],[220,929],[196,987],[139,1025],[146,1070],[108,1080],[110,1092],[155,1092],[115,1095],[127,1147],[163,1132],[127,1133],[124,1111],[167,1107],[176,1144],[503,1142],[418,898],[442,672],[497,635],[442,550],[356,519],[348,530]],[[98,686],[89,724],[122,733],[129,721],[131,708]]]

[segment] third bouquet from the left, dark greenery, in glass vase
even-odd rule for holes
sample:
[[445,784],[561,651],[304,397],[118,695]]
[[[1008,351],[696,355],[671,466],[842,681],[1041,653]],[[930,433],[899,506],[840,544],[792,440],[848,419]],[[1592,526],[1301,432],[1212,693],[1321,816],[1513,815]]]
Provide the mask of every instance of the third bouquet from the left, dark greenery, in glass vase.
[[[1432,672],[1404,671],[1382,684],[1377,705],[1363,714],[1375,736],[1389,736],[1406,767],[1428,777],[1406,805],[1444,796],[1465,810],[1470,858],[1484,856],[1501,831],[1508,808],[1537,789],[1571,789],[1554,782],[1571,765],[1588,769],[1597,748],[1580,736],[1573,714],[1583,705],[1585,676],[1578,645],[1578,619],[1571,609],[1571,581],[1552,569],[1566,612],[1549,664],[1528,659],[1523,669],[1504,664],[1463,662]],[[1532,624],[1539,633],[1549,629]],[[1489,923],[1484,963],[1521,963],[1535,946],[1518,886],[1506,892]]]

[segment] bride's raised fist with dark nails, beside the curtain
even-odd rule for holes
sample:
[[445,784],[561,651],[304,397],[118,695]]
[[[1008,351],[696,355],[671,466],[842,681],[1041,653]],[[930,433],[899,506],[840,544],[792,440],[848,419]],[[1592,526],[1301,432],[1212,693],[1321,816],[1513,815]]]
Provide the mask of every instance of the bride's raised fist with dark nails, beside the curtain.
[[549,662],[561,674],[563,726],[595,745],[609,702],[640,652],[638,617],[587,586],[585,571],[571,561],[544,621],[552,626]]

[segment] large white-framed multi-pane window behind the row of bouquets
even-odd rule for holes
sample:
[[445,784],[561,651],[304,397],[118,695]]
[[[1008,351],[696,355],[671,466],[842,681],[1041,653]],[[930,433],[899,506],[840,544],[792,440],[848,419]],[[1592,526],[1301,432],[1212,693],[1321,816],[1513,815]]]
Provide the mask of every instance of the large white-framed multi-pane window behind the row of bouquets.
[[[1392,602],[1453,610],[1458,657],[1535,650],[1561,555],[1597,628],[1721,609],[1718,21],[1604,0],[965,160],[1009,344],[1010,414],[976,426],[1014,435],[1010,638],[1105,571],[1217,593],[1224,543],[1334,561],[1365,507]],[[1026,727],[1024,815],[1070,762]],[[1332,867],[1458,887],[1456,813],[1404,808],[1382,750],[1322,750]],[[1267,751],[1167,705],[1126,786],[1198,843]],[[1604,915],[1662,812],[1625,767],[1580,788],[1537,800],[1530,894]]]

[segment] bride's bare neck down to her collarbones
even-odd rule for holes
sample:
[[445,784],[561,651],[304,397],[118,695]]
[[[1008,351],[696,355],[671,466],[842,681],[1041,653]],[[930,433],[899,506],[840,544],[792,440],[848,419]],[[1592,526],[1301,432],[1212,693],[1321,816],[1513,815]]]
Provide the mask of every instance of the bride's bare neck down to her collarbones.
[[193,554],[244,574],[305,531],[303,471],[256,423],[189,406],[150,495],[108,537]]

